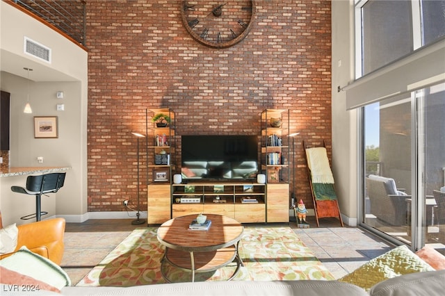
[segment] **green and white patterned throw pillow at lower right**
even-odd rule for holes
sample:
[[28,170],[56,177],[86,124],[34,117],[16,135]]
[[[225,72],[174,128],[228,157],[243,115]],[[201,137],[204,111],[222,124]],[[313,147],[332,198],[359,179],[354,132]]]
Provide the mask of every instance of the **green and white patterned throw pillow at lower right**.
[[373,258],[368,263],[357,268],[350,274],[339,279],[345,283],[369,290],[376,283],[398,277],[402,274],[435,270],[419,256],[411,252],[407,246],[402,245],[389,252]]

